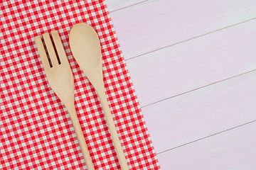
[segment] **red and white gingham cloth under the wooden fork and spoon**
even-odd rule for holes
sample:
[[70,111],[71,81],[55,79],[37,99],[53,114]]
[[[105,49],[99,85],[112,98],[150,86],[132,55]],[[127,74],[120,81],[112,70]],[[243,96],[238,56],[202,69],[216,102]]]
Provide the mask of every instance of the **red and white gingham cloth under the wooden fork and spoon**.
[[68,45],[95,28],[105,89],[130,169],[160,169],[105,1],[0,2],[0,169],[86,169],[68,111],[48,85],[33,38],[58,30],[75,79],[75,108],[95,169],[120,169],[99,98]]

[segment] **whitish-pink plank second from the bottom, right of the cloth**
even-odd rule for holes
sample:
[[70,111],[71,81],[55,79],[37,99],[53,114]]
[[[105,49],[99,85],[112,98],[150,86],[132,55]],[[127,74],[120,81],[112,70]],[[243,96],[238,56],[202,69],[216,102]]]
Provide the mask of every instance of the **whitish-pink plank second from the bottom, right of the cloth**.
[[255,86],[252,71],[142,108],[156,153],[256,120]]

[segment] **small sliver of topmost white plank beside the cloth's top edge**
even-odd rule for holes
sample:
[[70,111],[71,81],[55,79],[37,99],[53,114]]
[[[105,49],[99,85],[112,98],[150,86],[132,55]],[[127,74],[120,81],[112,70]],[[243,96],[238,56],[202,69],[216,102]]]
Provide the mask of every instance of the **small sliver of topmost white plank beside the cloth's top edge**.
[[129,0],[129,1],[120,1],[120,0],[106,0],[107,8],[111,11],[116,11],[121,8],[126,8],[128,6],[133,6],[135,4],[139,4],[144,2],[145,0]]

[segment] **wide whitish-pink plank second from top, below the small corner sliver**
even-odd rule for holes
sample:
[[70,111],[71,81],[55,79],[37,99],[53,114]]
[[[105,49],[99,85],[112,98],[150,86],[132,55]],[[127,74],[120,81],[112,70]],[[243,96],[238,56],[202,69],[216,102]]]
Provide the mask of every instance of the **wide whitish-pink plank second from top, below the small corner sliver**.
[[111,16],[124,57],[129,59],[256,18],[255,8],[255,0],[151,0]]

